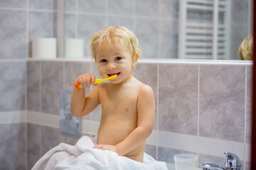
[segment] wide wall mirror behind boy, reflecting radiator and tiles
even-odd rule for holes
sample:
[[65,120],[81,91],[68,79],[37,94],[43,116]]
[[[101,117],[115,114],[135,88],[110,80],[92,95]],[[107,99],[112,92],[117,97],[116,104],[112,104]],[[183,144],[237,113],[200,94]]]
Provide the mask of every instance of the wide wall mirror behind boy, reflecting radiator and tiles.
[[63,16],[65,57],[90,57],[90,37],[105,26],[132,30],[143,59],[239,60],[252,33],[251,0],[65,0]]

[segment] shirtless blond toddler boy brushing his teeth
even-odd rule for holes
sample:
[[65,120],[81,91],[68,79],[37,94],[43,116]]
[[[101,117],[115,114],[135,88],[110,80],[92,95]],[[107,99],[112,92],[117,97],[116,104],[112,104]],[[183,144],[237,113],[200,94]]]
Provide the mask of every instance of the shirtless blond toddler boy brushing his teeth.
[[76,79],[70,111],[82,117],[102,106],[100,127],[94,148],[117,152],[143,162],[145,140],[154,125],[155,101],[150,86],[132,76],[141,50],[132,31],[124,27],[107,27],[92,35],[90,51],[102,78],[117,78],[98,84],[85,96],[85,89],[95,84],[95,76],[82,74]]

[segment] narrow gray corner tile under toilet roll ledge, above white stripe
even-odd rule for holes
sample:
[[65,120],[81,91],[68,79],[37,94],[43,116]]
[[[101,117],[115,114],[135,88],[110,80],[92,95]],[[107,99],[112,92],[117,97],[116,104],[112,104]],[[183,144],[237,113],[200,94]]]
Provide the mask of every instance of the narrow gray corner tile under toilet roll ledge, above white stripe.
[[40,111],[40,62],[27,62],[27,109]]

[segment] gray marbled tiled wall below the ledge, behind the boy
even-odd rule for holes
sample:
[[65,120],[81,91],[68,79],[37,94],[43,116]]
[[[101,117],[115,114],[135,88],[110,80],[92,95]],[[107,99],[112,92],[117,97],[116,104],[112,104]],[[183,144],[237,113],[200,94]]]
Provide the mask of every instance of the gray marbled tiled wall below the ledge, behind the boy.
[[[156,98],[154,132],[147,140],[146,152],[155,159],[171,163],[174,163],[174,154],[194,153],[198,154],[199,165],[206,162],[223,165],[223,152],[233,152],[247,167],[250,159],[251,66],[139,62],[134,77],[149,84]],[[51,115],[59,114],[60,89],[73,89],[76,77],[84,72],[100,76],[91,62],[29,60],[28,70],[28,96],[31,96],[28,97],[28,108]],[[33,102],[39,102],[37,107]],[[87,123],[98,123],[100,107],[82,119]],[[58,129],[53,128],[53,131],[60,135]],[[96,135],[97,130],[92,131],[82,128],[82,132]],[[50,135],[50,130],[47,133],[42,130],[41,135]],[[41,154],[60,142],[59,138],[44,142],[44,138],[38,141]]]

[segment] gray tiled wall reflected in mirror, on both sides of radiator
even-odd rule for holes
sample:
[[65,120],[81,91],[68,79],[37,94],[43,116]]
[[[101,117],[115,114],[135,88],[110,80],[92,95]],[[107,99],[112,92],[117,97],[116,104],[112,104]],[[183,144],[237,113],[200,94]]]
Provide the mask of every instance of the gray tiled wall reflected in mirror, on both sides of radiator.
[[[144,57],[177,58],[178,2],[179,0],[65,0],[65,38],[82,38],[85,42],[85,56],[89,56],[88,46],[92,33],[105,26],[125,26],[137,35]],[[250,8],[252,6],[249,1],[230,1],[228,37],[232,60],[238,59],[240,42],[252,33],[252,21],[248,16]],[[213,21],[210,11],[189,10],[188,18]]]

